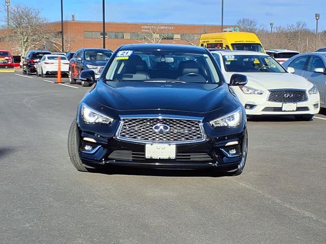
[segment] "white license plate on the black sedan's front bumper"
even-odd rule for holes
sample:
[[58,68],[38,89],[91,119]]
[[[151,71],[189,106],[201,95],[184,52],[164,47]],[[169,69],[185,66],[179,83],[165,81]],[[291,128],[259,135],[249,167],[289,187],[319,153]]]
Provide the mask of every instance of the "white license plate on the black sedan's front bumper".
[[146,144],[146,159],[175,159],[176,145],[169,144]]

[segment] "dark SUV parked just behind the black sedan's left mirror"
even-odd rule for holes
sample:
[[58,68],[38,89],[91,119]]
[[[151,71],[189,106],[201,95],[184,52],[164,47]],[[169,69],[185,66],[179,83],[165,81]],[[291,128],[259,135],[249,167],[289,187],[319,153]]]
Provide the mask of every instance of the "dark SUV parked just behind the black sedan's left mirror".
[[[93,70],[95,80],[97,80],[112,53],[112,50],[102,48],[82,48],[77,50],[70,59],[69,83],[75,84],[76,80],[79,79],[80,72],[83,70]],[[89,86],[91,84],[82,80],[83,86]]]

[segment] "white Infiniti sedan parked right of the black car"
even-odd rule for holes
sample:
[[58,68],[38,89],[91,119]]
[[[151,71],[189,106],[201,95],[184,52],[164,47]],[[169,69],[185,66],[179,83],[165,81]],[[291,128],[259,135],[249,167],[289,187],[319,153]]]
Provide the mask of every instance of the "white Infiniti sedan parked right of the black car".
[[267,54],[250,51],[211,51],[227,83],[234,73],[246,75],[244,86],[230,87],[249,116],[294,115],[310,120],[319,112],[317,86],[286,71]]

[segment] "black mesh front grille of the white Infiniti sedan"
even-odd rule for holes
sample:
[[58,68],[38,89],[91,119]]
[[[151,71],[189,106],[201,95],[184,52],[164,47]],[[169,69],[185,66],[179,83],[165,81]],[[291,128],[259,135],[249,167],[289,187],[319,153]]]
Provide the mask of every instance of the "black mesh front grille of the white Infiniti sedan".
[[308,100],[305,90],[269,90],[267,101],[279,103],[297,103]]

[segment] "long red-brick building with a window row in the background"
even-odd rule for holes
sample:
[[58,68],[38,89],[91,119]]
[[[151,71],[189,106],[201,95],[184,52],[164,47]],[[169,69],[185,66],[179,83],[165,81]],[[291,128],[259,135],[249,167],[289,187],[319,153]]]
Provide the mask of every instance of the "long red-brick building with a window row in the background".
[[[61,35],[61,22],[48,23],[49,29]],[[225,28],[236,28],[225,26]],[[117,23],[106,22],[106,48],[115,50],[123,44],[150,43],[148,39],[162,38],[161,43],[198,45],[200,34],[221,32],[221,25],[158,24],[158,23]],[[5,42],[6,29],[0,30],[0,49],[9,49],[18,54]],[[82,47],[103,45],[102,22],[64,21],[65,51],[75,51]],[[50,50],[58,51],[58,50]]]

